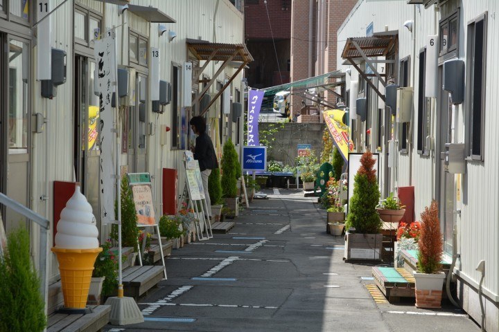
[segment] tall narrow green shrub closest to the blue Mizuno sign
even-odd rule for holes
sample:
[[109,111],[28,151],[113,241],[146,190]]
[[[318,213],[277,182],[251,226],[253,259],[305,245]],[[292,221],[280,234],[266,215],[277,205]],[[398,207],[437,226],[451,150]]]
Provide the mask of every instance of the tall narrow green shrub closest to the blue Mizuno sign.
[[237,181],[241,176],[240,163],[238,154],[234,148],[232,141],[227,140],[223,147],[222,160],[220,161],[222,168],[222,196],[229,208],[234,210],[235,216],[238,216],[238,197],[237,197]]

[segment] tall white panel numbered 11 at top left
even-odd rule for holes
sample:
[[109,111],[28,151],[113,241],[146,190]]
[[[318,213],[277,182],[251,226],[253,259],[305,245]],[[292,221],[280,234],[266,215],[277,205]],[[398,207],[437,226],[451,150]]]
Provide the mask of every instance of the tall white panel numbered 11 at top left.
[[[12,1],[12,6],[14,6]],[[17,2],[17,1],[16,1]],[[17,2],[19,6],[19,2]],[[28,1],[24,2],[24,8],[29,8]],[[46,17],[51,11],[51,1],[41,1],[35,5],[37,19],[41,21],[37,26],[37,80],[52,79],[52,28],[51,16]],[[28,10],[29,12],[29,10]],[[27,14],[27,12],[26,12]],[[45,17],[45,18],[44,18]],[[43,19],[43,21],[42,21]]]

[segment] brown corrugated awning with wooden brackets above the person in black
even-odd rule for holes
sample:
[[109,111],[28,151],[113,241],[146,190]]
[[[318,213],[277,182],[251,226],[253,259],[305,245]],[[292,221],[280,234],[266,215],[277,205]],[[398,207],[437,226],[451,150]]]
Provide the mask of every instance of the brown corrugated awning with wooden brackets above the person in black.
[[203,87],[202,91],[195,95],[193,98],[193,104],[196,105],[196,109],[199,109],[199,102],[206,93],[210,86],[216,82],[218,75],[227,66],[232,68],[237,68],[237,70],[232,74],[227,83],[222,86],[215,97],[213,97],[207,107],[200,109],[200,115],[206,113],[211,107],[211,105],[216,101],[216,99],[223,93],[227,86],[236,78],[236,76],[246,67],[249,62],[253,61],[252,55],[249,53],[245,44],[222,44],[222,43],[211,43],[200,39],[187,39],[186,40],[187,49],[189,52],[198,60],[204,61],[204,64],[200,68],[194,68],[193,70],[193,84],[198,84],[202,72],[207,68],[211,61],[222,61],[222,66],[218,68],[218,71],[211,77],[211,80],[207,82],[206,86]]

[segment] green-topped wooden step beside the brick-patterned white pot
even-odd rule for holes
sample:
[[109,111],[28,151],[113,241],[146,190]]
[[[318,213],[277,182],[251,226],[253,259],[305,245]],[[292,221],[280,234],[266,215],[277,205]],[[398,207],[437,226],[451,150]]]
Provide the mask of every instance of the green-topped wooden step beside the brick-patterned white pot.
[[416,285],[403,268],[372,268],[374,282],[388,299],[388,302],[399,302],[401,297],[414,297]]

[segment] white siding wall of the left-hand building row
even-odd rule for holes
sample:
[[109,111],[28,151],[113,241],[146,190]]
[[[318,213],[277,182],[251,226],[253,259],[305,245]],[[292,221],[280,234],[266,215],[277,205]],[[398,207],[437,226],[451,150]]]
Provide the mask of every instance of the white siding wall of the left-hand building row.
[[[53,1],[53,8],[63,0]],[[157,47],[161,54],[161,80],[171,81],[172,64],[183,64],[187,60],[186,39],[203,39],[209,42],[243,44],[243,15],[228,0],[133,0],[131,3],[139,6],[153,6],[177,21],[175,24],[165,24],[170,30],[177,33],[173,42],[168,42],[167,35],[158,37],[159,24],[150,24],[148,21],[126,11],[119,16],[119,7],[94,0],[77,1],[82,6],[96,10],[103,15],[103,27],[116,26],[118,41],[118,63],[128,66],[128,31],[129,29],[149,38],[149,46]],[[216,9],[217,8],[217,9]],[[123,25],[122,25],[123,24]],[[48,118],[43,133],[33,133],[32,174],[33,209],[53,220],[53,181],[73,181],[73,130],[74,130],[74,56],[73,56],[73,1],[67,1],[53,14],[53,48],[60,48],[67,52],[67,81],[58,87],[57,97],[47,100],[40,95],[40,83],[35,82],[32,89],[32,111],[42,113]],[[102,29],[104,30],[104,29]],[[122,37],[123,44],[122,45]],[[36,47],[33,50],[32,75],[36,73]],[[222,62],[212,64],[204,73],[209,77],[218,70]],[[220,79],[231,76],[232,68],[226,68],[220,74]],[[240,86],[242,73],[236,77],[232,86]],[[212,92],[215,92],[213,86]],[[232,90],[234,94],[234,89]],[[166,145],[159,142],[159,128],[161,124],[173,127],[171,105],[166,107],[164,114],[157,116],[152,113],[150,98],[148,97],[147,111],[149,121],[153,122],[156,135],[148,136],[148,172],[155,176],[155,208],[161,213],[161,168],[176,168],[179,171],[179,190],[183,189],[182,151],[172,150],[171,138]],[[48,135],[48,136],[47,136]],[[45,167],[47,161],[48,167]],[[122,156],[122,165],[127,163]],[[96,179],[98,181],[98,179]],[[40,196],[46,194],[50,200],[47,203],[40,201]],[[98,215],[97,212],[94,214]],[[56,264],[52,264],[51,277],[58,274]]]

